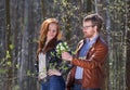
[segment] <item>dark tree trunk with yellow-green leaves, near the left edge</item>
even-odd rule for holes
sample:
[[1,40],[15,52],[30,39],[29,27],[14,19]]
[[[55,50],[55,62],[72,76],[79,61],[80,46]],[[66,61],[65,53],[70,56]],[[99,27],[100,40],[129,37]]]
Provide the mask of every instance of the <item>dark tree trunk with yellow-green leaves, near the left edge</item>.
[[10,0],[5,0],[5,18],[6,18],[6,68],[8,68],[8,82],[6,90],[12,90],[13,86],[13,56],[12,56],[12,33],[11,33],[11,21],[10,21]]

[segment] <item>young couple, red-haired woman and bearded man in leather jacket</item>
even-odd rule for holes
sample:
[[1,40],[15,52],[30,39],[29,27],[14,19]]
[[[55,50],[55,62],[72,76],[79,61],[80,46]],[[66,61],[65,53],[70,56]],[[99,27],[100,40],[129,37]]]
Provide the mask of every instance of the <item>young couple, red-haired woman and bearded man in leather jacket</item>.
[[41,90],[101,90],[103,64],[108,51],[100,36],[102,23],[103,18],[98,14],[83,18],[84,38],[79,41],[75,55],[69,50],[58,53],[62,50],[58,47],[64,42],[57,20],[48,18],[41,24],[37,53]]

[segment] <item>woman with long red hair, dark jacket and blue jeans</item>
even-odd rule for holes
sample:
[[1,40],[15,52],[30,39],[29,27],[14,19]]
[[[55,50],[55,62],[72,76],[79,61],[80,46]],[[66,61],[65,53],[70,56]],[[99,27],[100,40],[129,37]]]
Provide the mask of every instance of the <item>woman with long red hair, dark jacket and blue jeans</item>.
[[56,52],[56,46],[62,42],[61,37],[57,20],[48,18],[42,23],[37,53],[41,90],[65,90],[63,76],[69,68]]

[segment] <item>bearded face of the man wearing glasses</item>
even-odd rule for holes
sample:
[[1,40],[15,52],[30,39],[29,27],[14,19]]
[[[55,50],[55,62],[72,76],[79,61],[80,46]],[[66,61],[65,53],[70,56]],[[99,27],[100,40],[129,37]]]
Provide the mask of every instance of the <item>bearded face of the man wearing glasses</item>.
[[95,34],[95,26],[92,24],[91,21],[83,22],[82,31],[84,38],[92,38]]

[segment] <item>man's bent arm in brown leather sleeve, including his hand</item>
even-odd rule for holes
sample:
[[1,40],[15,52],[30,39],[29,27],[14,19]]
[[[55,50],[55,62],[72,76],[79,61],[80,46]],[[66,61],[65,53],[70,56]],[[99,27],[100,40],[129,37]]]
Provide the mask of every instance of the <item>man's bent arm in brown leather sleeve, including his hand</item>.
[[83,67],[83,68],[95,68],[100,66],[107,55],[107,47],[106,46],[99,46],[95,52],[88,59],[81,60],[77,57],[73,57],[72,55],[65,53],[63,54],[64,60],[70,61],[72,64]]

